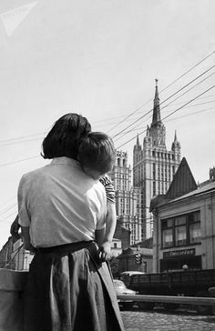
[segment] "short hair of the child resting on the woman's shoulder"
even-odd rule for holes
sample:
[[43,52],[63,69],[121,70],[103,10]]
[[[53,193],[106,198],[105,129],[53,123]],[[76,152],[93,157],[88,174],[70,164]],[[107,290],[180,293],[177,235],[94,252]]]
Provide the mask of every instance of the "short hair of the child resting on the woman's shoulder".
[[90,132],[79,145],[78,160],[82,167],[107,173],[115,162],[112,139],[102,132]]

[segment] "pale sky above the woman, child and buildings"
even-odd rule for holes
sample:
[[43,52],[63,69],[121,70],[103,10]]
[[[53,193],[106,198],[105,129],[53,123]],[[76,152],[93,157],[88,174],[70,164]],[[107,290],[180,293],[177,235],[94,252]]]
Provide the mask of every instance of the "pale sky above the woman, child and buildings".
[[58,117],[87,116],[132,149],[151,123],[155,78],[170,149],[175,130],[194,178],[214,160],[214,0],[1,0],[0,247],[20,177],[46,162]]

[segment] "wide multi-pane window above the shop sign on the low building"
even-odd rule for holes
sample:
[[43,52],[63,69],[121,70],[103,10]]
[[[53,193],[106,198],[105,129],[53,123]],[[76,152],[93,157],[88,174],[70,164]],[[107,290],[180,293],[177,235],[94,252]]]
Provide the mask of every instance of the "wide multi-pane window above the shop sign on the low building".
[[162,248],[200,243],[200,211],[161,220]]

